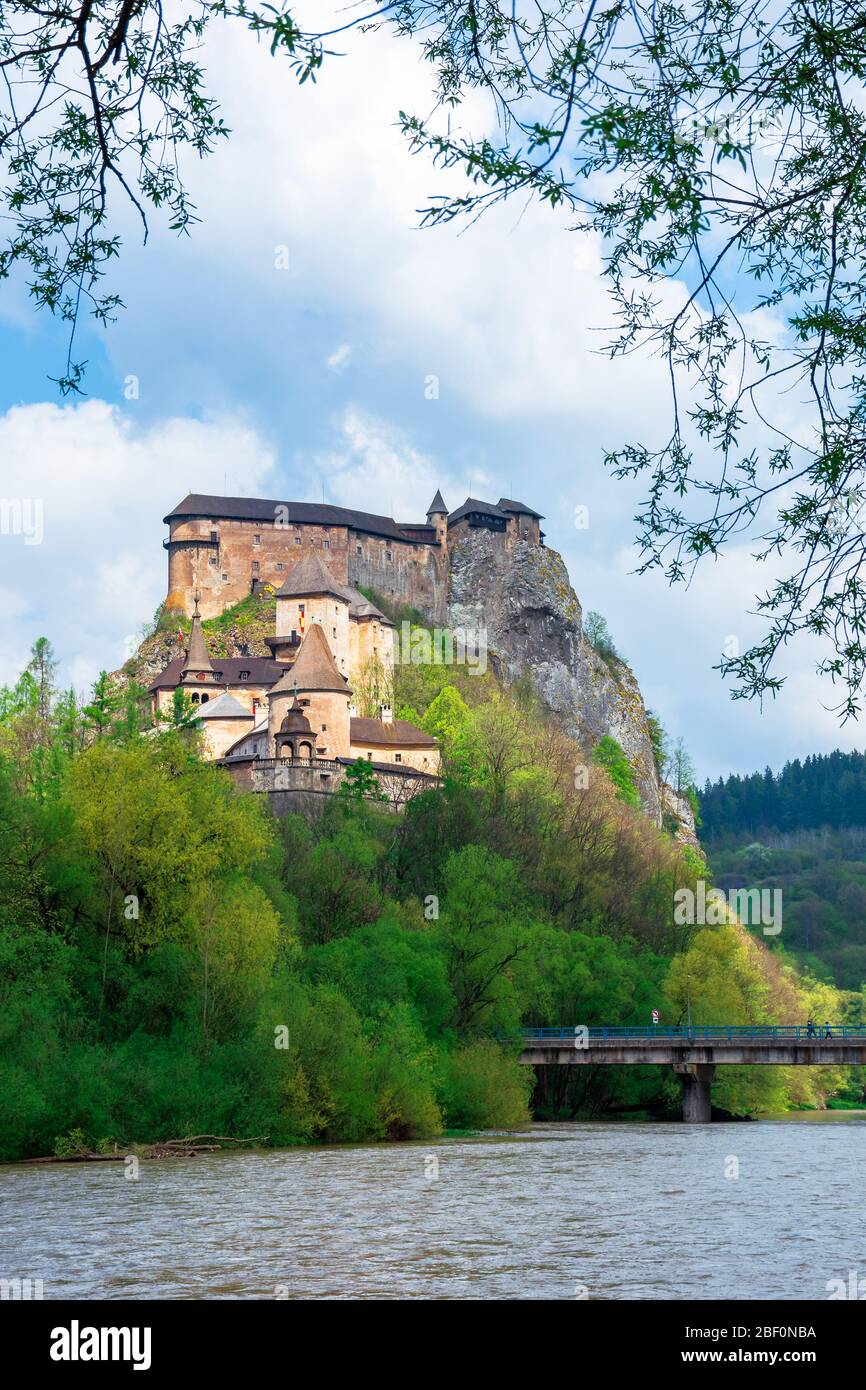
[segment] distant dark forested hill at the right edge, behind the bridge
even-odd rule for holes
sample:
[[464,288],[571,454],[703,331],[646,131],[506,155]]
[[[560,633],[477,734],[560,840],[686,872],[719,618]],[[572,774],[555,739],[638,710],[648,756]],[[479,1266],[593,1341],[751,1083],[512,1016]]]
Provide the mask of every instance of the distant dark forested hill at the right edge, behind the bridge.
[[862,988],[866,756],[837,751],[777,774],[767,767],[708,783],[701,816],[716,884],[780,891],[777,945],[841,988]]

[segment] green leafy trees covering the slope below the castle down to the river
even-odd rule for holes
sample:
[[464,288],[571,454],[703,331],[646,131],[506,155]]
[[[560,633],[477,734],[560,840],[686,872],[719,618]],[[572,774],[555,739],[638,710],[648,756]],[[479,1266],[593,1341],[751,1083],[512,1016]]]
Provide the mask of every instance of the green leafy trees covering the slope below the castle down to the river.
[[[203,763],[181,705],[143,728],[138,696],[58,691],[44,641],[0,692],[3,1158],[670,1115],[667,1069],[549,1069],[532,1091],[509,1037],[680,1022],[687,1001],[708,1023],[863,1017],[862,994],[740,927],[676,924],[702,860],[632,805],[627,762],[580,749],[524,688],[400,670],[443,785],[395,813],[361,764],[314,821],[274,820]],[[862,1090],[724,1068],[713,1097],[751,1113]]]

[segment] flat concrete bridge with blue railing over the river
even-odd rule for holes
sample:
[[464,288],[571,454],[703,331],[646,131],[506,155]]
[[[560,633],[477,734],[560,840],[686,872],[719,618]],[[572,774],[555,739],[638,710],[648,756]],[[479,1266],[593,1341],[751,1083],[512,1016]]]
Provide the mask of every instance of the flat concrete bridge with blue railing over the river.
[[521,1029],[520,1042],[524,1066],[673,1066],[689,1125],[712,1118],[717,1066],[866,1066],[866,1024]]

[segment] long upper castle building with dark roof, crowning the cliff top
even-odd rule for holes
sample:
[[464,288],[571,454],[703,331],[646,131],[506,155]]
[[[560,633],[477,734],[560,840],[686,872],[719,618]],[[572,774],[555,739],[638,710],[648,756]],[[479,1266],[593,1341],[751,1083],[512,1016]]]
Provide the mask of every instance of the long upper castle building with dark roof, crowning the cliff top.
[[202,617],[217,617],[261,585],[278,591],[310,555],[327,562],[334,580],[364,587],[418,609],[445,624],[450,550],[473,530],[544,545],[544,517],[523,502],[467,498],[449,513],[436,492],[424,523],[313,502],[215,498],[189,493],[164,518],[168,538],[165,607],[192,617],[200,594]]

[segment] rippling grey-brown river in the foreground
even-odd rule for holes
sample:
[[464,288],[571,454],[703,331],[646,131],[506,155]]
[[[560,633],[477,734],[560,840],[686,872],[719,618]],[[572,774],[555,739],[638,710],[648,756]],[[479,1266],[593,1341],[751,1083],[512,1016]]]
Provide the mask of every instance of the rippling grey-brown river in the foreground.
[[[866,1112],[0,1168],[44,1298],[809,1298],[866,1290]],[[738,1176],[735,1176],[738,1173]]]

